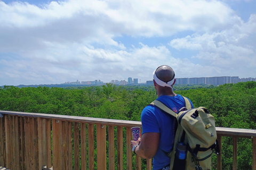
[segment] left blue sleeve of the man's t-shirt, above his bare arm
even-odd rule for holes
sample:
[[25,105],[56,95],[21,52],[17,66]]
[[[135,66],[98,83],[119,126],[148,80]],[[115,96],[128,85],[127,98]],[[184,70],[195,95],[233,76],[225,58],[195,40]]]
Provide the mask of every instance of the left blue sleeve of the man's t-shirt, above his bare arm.
[[160,133],[154,106],[147,106],[141,113],[142,134],[147,132]]

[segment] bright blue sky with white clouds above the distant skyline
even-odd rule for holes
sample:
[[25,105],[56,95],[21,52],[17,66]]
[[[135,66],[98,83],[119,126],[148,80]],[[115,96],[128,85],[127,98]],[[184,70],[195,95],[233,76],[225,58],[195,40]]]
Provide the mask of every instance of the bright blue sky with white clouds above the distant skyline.
[[0,86],[256,77],[256,1],[0,0]]

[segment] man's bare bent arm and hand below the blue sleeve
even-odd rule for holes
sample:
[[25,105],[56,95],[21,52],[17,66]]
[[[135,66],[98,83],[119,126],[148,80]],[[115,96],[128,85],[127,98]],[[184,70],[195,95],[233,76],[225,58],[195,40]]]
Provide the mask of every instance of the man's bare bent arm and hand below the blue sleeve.
[[151,159],[154,155],[156,155],[159,139],[160,133],[143,133],[140,141],[131,141],[131,147],[134,145],[139,145],[135,148],[135,153],[141,158]]

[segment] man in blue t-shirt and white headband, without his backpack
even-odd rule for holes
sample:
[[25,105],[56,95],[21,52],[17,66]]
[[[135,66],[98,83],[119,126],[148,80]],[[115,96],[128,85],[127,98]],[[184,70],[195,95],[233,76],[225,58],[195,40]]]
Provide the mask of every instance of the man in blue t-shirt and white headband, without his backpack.
[[[183,97],[173,92],[175,74],[170,66],[159,66],[153,73],[153,79],[157,100],[171,108],[175,113],[186,106]],[[191,107],[193,107],[192,103]],[[155,106],[148,105],[141,113],[141,122],[142,137],[138,141],[131,141],[132,150],[141,158],[154,157],[153,170],[169,169],[170,157],[167,154],[173,149],[177,129],[176,118],[162,112]]]

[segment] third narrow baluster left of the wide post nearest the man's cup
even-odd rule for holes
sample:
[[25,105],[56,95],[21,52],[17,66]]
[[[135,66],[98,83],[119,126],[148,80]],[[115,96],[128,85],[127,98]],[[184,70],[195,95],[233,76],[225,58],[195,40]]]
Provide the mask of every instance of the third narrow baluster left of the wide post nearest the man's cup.
[[74,168],[75,170],[79,169],[79,123],[74,123]]

